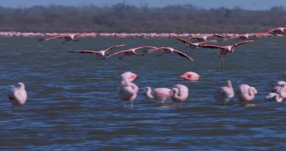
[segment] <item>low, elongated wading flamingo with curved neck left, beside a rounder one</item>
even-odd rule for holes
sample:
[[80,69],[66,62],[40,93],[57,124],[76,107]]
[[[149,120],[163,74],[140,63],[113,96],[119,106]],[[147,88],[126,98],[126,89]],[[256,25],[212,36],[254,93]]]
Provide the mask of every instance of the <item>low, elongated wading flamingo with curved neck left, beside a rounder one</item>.
[[145,87],[145,95],[149,99],[159,100],[161,103],[164,103],[165,100],[171,97],[171,89],[169,88],[155,88],[151,89],[151,87]]

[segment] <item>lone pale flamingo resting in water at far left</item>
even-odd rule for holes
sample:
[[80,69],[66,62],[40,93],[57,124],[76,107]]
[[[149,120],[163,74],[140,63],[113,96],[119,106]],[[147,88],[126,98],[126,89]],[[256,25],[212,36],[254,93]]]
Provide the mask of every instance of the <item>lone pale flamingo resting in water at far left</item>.
[[8,98],[13,105],[21,106],[26,103],[27,92],[23,82],[18,82],[17,86],[12,85],[8,90]]

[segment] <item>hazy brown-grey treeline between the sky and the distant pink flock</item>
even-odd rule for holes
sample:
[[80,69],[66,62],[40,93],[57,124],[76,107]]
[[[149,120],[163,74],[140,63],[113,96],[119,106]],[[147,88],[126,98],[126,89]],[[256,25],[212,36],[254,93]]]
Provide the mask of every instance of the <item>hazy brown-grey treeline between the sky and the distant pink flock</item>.
[[125,3],[95,6],[0,6],[0,31],[40,33],[250,33],[286,24],[286,10],[198,8],[192,4],[140,7]]

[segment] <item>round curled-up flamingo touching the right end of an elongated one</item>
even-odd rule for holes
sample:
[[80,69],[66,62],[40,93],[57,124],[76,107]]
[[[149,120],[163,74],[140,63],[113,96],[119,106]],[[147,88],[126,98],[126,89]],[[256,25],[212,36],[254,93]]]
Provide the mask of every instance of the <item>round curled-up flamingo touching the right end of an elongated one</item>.
[[171,98],[174,101],[184,102],[189,96],[189,88],[183,84],[175,84],[172,88]]

